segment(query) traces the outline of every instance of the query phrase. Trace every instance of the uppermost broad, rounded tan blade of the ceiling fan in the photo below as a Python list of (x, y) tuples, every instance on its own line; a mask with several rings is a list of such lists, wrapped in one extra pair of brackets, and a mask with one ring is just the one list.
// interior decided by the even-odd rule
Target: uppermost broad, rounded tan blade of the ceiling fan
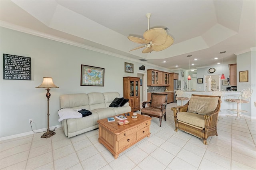
[(163, 45), (167, 39), (167, 33), (162, 28), (153, 28), (144, 32), (143, 37), (154, 45)]

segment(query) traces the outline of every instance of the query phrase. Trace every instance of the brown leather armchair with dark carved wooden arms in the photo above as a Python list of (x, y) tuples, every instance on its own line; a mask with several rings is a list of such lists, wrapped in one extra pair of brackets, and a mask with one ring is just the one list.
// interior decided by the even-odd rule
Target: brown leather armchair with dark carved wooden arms
[[(149, 107), (145, 107), (149, 103)], [(166, 105), (167, 94), (152, 93), (150, 101), (144, 101), (142, 103), (141, 114), (148, 115), (150, 117), (158, 117), (160, 121), (160, 127), (162, 126), (162, 117), (166, 121)]]

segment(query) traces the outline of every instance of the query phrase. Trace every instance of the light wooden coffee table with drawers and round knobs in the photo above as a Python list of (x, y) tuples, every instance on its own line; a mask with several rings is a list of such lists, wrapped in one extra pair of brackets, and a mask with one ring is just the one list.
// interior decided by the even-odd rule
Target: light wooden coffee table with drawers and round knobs
[[(117, 159), (119, 154), (142, 140), (146, 136), (150, 136), (151, 119), (148, 116), (137, 114), (138, 118), (132, 118), (133, 113), (129, 112), (130, 116), (126, 125), (118, 125), (119, 119), (114, 122), (108, 122), (107, 119), (98, 120), (99, 125), (99, 142), (102, 143)], [(124, 115), (124, 114), (121, 114)]]

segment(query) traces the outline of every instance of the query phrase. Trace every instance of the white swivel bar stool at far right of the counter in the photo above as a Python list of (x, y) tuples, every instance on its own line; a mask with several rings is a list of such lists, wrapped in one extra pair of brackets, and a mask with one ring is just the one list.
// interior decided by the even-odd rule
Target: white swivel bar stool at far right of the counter
[(227, 116), (232, 116), (232, 115), (236, 114), (236, 119), (237, 119), (238, 117), (240, 118), (241, 116), (243, 116), (240, 114), (240, 112), (241, 113), (248, 112), (248, 111), (240, 110), (239, 104), (240, 103), (241, 104), (250, 103), (252, 92), (253, 92), (253, 90), (248, 88), (248, 89), (243, 89), (237, 98), (234, 98), (235, 97), (234, 95), (228, 95), (226, 101), (236, 103), (237, 107), (236, 107), (236, 109), (228, 109), (230, 111), (236, 111), (236, 113), (233, 113), (233, 114), (227, 115)]

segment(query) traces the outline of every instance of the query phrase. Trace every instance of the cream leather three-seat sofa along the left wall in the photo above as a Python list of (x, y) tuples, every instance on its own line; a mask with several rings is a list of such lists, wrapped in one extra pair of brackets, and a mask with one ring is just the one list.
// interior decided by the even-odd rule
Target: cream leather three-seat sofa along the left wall
[(99, 119), (127, 113), (132, 110), (128, 102), (122, 107), (109, 107), (116, 97), (120, 97), (118, 92), (61, 95), (60, 108), (84, 108), (92, 112), (92, 115), (86, 117), (62, 120), (61, 123), (65, 135), (70, 138), (96, 129), (98, 128), (97, 121)]

